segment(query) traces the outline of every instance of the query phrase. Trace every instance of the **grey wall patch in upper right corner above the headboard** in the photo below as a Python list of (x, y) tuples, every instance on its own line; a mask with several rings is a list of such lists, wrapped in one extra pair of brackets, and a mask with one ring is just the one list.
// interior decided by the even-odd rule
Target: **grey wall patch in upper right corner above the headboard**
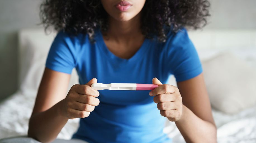
[(210, 0), (206, 29), (256, 29), (256, 0)]

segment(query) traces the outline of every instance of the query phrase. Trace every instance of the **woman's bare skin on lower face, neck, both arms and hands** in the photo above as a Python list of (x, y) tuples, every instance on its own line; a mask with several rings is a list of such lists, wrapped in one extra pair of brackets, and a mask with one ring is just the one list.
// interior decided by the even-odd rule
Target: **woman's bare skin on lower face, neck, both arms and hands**
[[(104, 42), (113, 54), (129, 59), (145, 39), (139, 21), (145, 0), (129, 1), (132, 7), (126, 12), (117, 11), (114, 7), (117, 2), (102, 0), (109, 14), (109, 29), (104, 33)], [(70, 74), (45, 68), (29, 121), (29, 137), (51, 142), (68, 119), (88, 117), (99, 105), (99, 92), (91, 88), (97, 79), (93, 78), (85, 85), (74, 85), (66, 94), (69, 80)], [(216, 127), (203, 74), (177, 82), (178, 87), (162, 84), (156, 78), (152, 84), (159, 86), (151, 91), (156, 108), (162, 116), (176, 123), (186, 142), (216, 142)]]

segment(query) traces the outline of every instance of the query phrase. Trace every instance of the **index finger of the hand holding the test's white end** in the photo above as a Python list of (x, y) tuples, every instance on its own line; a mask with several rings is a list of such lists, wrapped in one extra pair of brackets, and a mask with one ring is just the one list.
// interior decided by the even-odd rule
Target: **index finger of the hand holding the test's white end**
[(88, 85), (77, 85), (77, 87), (75, 88), (75, 91), (83, 95), (90, 95), (93, 97), (99, 96), (99, 91), (97, 91), (96, 89), (93, 89), (91, 86), (88, 86)]

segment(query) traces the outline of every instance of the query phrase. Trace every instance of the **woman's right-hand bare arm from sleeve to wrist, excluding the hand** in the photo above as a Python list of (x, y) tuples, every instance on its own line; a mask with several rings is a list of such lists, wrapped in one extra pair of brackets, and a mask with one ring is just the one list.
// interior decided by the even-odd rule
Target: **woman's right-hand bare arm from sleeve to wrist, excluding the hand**
[(182, 116), (175, 122), (186, 142), (217, 142), (216, 126), (203, 74), (177, 82), (182, 96)]

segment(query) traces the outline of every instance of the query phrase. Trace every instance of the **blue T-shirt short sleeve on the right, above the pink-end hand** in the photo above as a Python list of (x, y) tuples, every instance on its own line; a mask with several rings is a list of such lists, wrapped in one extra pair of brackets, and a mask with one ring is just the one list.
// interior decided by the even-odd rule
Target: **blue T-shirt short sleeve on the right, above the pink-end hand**
[(177, 82), (191, 79), (203, 72), (195, 46), (185, 28), (170, 36), (166, 46), (166, 70), (175, 76)]

